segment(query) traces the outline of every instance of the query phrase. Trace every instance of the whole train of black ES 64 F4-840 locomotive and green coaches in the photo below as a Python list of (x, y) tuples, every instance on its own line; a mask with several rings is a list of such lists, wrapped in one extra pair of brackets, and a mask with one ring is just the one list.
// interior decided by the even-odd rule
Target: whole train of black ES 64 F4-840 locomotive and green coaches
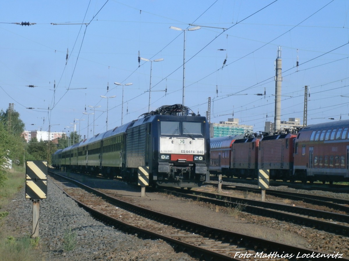
[(52, 159), (61, 158), (61, 165), (53, 166), (130, 182), (137, 182), (138, 168), (146, 167), (150, 185), (198, 187), (209, 180), (209, 125), (205, 117), (188, 114), (181, 104), (161, 106), (55, 152)]

